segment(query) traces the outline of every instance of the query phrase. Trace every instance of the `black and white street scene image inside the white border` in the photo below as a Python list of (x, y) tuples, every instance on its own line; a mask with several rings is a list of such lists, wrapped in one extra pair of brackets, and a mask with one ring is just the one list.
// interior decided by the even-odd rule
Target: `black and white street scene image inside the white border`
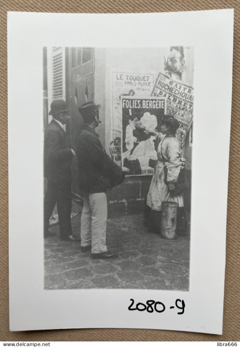
[(193, 67), (43, 48), (45, 289), (189, 290)]

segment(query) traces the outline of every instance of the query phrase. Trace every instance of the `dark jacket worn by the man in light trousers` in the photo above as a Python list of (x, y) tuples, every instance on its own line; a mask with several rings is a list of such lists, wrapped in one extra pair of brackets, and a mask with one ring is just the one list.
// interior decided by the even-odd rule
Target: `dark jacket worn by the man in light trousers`
[(122, 176), (122, 168), (105, 152), (99, 135), (84, 125), (77, 137), (76, 154), (79, 169), (79, 188), (86, 193), (102, 193), (111, 188), (109, 179)]

